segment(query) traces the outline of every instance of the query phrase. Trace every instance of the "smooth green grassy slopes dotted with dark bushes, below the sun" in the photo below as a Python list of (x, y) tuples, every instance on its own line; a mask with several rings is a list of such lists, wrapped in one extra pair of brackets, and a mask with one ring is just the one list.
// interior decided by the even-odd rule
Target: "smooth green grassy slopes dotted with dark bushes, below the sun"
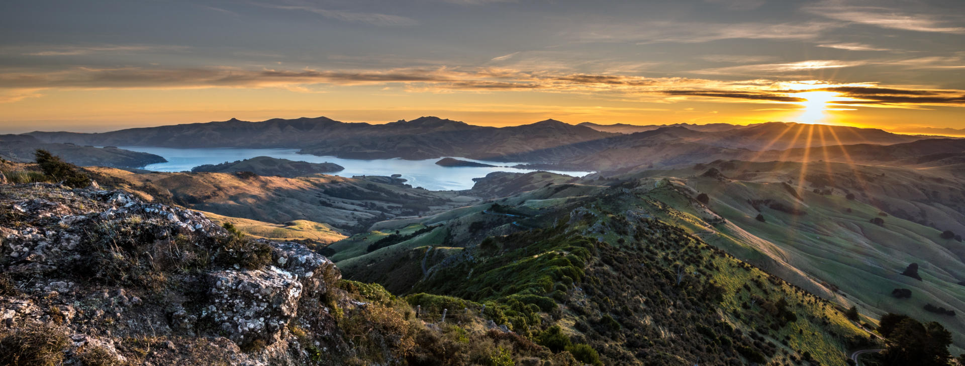
[[(688, 227), (707, 242), (815, 294), (856, 304), (874, 318), (893, 312), (945, 324), (958, 350), (965, 346), (965, 325), (955, 317), (924, 310), (929, 303), (958, 313), (965, 310), (965, 286), (961, 284), (965, 245), (941, 238), (938, 229), (882, 210), (916, 202), (912, 197), (917, 191), (899, 194), (902, 184), (911, 187), (927, 182), (912, 183), (894, 169), (881, 176), (875, 170), (883, 168), (869, 167), (860, 171), (876, 176), (877, 182), (867, 183), (864, 192), (848, 199), (841, 182), (815, 193), (812, 183), (797, 184), (800, 164), (785, 163), (785, 170), (778, 164), (752, 164), (749, 170), (769, 173), (745, 180), (686, 177), (683, 171), (654, 172), (648, 181), (669, 176), (669, 182), (676, 183), (652, 190), (648, 196), (678, 211), (655, 211), (668, 222)], [(785, 184), (788, 180), (795, 184)], [(699, 192), (708, 195), (706, 205), (694, 199)], [(758, 220), (758, 214), (764, 221)], [(882, 224), (872, 223), (875, 218)], [(900, 274), (912, 263), (919, 265), (923, 281)], [(895, 289), (909, 289), (912, 296), (896, 298), (892, 295)]]

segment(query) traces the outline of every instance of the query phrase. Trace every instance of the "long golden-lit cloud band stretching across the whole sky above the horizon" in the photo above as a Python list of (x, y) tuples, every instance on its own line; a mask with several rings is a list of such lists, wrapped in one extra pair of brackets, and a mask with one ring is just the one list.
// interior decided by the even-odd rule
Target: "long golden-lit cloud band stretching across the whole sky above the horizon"
[[(817, 62), (794, 63), (792, 69), (826, 68)], [(790, 65), (790, 64), (775, 64)], [(840, 66), (840, 65), (837, 65)], [(400, 68), (388, 70), (245, 70), (198, 69), (91, 69), (0, 72), (0, 92), (7, 100), (36, 97), (41, 90), (96, 89), (208, 89), (281, 88), (294, 93), (315, 93), (318, 86), (401, 86), (411, 93), (455, 91), (494, 93), (538, 91), (583, 94), (597, 98), (674, 102), (711, 99), (731, 102), (800, 103), (796, 93), (834, 92), (832, 104), (884, 107), (965, 105), (965, 91), (916, 87), (879, 87), (871, 83), (832, 84), (820, 81), (786, 82), (752, 78), (714, 80), (686, 77), (573, 73), (508, 68)]]

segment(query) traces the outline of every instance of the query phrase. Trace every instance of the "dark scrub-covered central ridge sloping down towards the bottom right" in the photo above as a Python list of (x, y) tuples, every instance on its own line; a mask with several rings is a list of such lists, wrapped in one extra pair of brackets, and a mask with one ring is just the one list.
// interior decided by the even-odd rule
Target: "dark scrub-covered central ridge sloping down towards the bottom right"
[(433, 296), (455, 296), (550, 349), (586, 344), (603, 364), (843, 365), (846, 350), (869, 344), (840, 305), (689, 235), (706, 225), (699, 218), (687, 228), (658, 220), (650, 211), (689, 214), (651, 196), (662, 190), (655, 185), (593, 185), (568, 198), (553, 195), (579, 186), (547, 186), (498, 201), (525, 215), (511, 218), (525, 226), (497, 222), (488, 239), (446, 239), (487, 217), (467, 208), (429, 232), (336, 259), (348, 278), (409, 294), (430, 313), (445, 306)]

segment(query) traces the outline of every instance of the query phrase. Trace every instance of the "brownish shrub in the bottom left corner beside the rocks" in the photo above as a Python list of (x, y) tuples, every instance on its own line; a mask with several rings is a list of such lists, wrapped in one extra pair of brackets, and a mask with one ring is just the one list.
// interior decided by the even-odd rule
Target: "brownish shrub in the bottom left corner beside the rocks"
[(33, 325), (15, 329), (0, 339), (0, 365), (54, 366), (64, 360), (67, 336), (60, 330)]

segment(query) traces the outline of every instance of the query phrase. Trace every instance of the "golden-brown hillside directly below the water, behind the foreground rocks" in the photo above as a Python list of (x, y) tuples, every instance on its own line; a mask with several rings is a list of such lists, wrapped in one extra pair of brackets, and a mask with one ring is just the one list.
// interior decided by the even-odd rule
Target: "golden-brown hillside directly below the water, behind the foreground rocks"
[(101, 184), (134, 191), (148, 200), (265, 222), (321, 222), (345, 232), (362, 232), (385, 219), (431, 214), (481, 201), (452, 191), (388, 183), (391, 181), (380, 177), (284, 178), (244, 173), (89, 170)]

